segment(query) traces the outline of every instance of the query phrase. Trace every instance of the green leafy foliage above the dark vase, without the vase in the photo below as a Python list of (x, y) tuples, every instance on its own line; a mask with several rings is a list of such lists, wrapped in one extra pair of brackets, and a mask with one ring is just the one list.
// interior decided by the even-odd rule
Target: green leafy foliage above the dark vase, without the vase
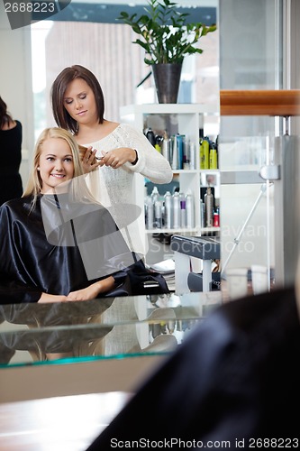
[(145, 50), (146, 64), (180, 64), (186, 55), (203, 52), (195, 44), (208, 32), (214, 32), (216, 25), (186, 22), (189, 14), (179, 13), (177, 4), (170, 0), (148, 0), (148, 4), (144, 8), (148, 14), (137, 17), (122, 12), (118, 18), (141, 36), (132, 42)]

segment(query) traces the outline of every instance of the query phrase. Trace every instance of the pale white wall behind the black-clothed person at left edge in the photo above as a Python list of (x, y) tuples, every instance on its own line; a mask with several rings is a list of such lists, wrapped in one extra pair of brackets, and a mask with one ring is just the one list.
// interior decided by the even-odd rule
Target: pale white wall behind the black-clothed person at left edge
[(23, 124), (21, 175), (24, 185), (28, 155), (34, 145), (31, 35), (29, 26), (11, 30), (3, 2), (0, 2), (0, 42), (0, 96), (14, 119)]

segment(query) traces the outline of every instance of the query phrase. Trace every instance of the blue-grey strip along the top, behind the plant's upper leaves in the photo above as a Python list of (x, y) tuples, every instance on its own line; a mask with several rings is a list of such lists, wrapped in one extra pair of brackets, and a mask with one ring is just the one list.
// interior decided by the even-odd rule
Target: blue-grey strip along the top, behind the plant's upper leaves
[[(68, 5), (66, 5), (66, 3)], [(60, 12), (51, 17), (53, 21), (66, 22), (94, 22), (94, 23), (115, 23), (121, 11), (128, 11), (129, 14), (144, 12), (145, 0), (71, 0), (59, 2)], [(206, 25), (216, 23), (215, 0), (181, 0), (178, 11), (190, 14), (191, 22), (201, 22)], [(178, 1), (179, 5), (179, 1)]]

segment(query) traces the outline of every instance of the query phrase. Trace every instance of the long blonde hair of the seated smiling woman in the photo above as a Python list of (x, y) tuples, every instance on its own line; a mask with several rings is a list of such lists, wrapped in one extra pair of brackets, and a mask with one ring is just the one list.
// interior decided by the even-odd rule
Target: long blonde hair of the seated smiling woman
[(95, 202), (91, 192), (87, 188), (84, 170), (81, 164), (81, 157), (78, 144), (74, 136), (59, 127), (46, 128), (40, 134), (34, 146), (32, 169), (30, 171), (29, 179), (26, 188), (23, 191), (23, 198), (32, 196), (32, 208), (35, 206), (38, 196), (41, 194), (42, 179), (38, 166), (40, 163), (42, 144), (49, 139), (62, 139), (68, 143), (69, 149), (72, 153), (74, 164), (74, 175), (71, 183), (72, 196), (76, 200)]

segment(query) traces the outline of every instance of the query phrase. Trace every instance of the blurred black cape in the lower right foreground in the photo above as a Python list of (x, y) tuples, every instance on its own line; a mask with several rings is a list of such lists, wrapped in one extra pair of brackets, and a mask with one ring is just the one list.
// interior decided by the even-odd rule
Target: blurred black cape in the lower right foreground
[(299, 355), (293, 289), (224, 304), (87, 450), (130, 448), (134, 440), (139, 449), (297, 448)]

